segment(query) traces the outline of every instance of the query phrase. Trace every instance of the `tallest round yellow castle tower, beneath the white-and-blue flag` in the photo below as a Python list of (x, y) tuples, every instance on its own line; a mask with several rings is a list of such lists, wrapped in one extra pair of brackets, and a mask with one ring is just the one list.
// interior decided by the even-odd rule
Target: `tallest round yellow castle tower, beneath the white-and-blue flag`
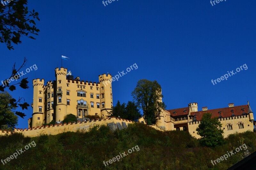
[(56, 104), (55, 114), (56, 121), (63, 121), (67, 115), (67, 83), (66, 83), (67, 69), (60, 67), (55, 69), (56, 86), (55, 91)]

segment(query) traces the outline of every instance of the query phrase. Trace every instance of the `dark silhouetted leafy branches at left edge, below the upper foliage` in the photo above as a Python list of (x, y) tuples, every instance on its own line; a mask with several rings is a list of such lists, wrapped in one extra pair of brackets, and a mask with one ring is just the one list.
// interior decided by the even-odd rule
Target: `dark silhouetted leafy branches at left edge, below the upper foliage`
[[(0, 91), (4, 92), (5, 88), (9, 88), (10, 91), (14, 91), (14, 90), (16, 90), (16, 85), (19, 85), (23, 89), (28, 88), (28, 81), (27, 81), (28, 78), (23, 78), (20, 82), (13, 84), (13, 85), (10, 84), (12, 81), (14, 81), (14, 79), (16, 81), (18, 79), (20, 79), (19, 71), (21, 68), (23, 68), (26, 65), (27, 61), (28, 60), (26, 58), (24, 58), (23, 64), (20, 66), (20, 68), (18, 70), (15, 69), (15, 63), (14, 63), (13, 68), (12, 68), (12, 74), (8, 79), (6, 79), (4, 81), (2, 80), (1, 83), (3, 85), (0, 85)], [(7, 97), (7, 96), (0, 96), (0, 99), (3, 101), (3, 104), (0, 106), (0, 111), (4, 110), (4, 109), (12, 110), (19, 106), (22, 108), (22, 110), (24, 110), (24, 109), (28, 109), (28, 106), (29, 106), (29, 104), (27, 102), (25, 102), (24, 98), (20, 98), (20, 97), (18, 100), (16, 100), (14, 98), (9, 99), (9, 97)], [(24, 118), (24, 116), (26, 116), (24, 113), (18, 112), (18, 111), (16, 111), (15, 114), (20, 116), (21, 118)]]

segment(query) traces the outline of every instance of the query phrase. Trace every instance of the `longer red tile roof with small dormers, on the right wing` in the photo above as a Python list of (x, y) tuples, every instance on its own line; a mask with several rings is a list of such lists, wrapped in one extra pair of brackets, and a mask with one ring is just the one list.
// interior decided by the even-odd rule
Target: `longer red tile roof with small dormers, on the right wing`
[(196, 115), (196, 120), (200, 121), (202, 119), (202, 116), (204, 113), (211, 113), (212, 118), (213, 117), (219, 117), (219, 110), (221, 111), (222, 117), (230, 117), (232, 115), (231, 110), (234, 110), (234, 115), (242, 115), (242, 107), (244, 107), (244, 113), (248, 113), (248, 105), (242, 105), (242, 106), (235, 106), (235, 107), (225, 107), (225, 108), (219, 108), (219, 109), (212, 109), (207, 111), (198, 111), (198, 112), (191, 112), (190, 115), (194, 116)]

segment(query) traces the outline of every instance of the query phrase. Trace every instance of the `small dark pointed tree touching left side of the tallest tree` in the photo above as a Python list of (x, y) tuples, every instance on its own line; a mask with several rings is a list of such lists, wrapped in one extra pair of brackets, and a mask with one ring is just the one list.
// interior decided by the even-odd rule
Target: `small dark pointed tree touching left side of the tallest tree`
[(124, 119), (137, 121), (141, 117), (140, 109), (135, 104), (135, 102), (128, 101), (125, 107), (125, 117)]

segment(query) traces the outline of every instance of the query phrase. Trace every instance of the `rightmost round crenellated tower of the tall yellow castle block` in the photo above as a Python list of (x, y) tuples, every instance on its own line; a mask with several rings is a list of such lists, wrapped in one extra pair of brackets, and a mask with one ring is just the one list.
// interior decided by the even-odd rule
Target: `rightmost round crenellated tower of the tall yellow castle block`
[(100, 114), (103, 118), (112, 110), (112, 76), (110, 74), (99, 75), (100, 81)]

